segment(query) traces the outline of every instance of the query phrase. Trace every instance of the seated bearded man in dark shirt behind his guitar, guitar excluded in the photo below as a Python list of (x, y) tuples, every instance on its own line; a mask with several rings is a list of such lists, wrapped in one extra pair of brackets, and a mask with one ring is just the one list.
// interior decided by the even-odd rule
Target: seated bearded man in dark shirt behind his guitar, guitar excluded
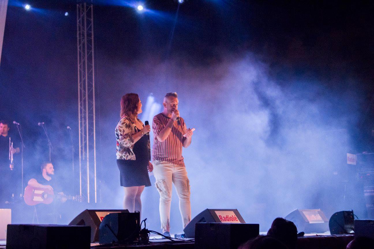
[[(28, 181), (28, 185), (34, 188), (42, 188), (52, 190), (55, 194), (55, 198), (52, 203), (45, 205), (40, 203), (36, 205), (37, 208), (37, 216), (39, 217), (39, 223), (44, 224), (53, 224), (58, 222), (58, 217), (61, 218), (58, 209), (60, 206), (58, 202), (64, 203), (66, 202), (66, 197), (64, 192), (62, 192), (61, 185), (58, 181), (54, 178), (55, 169), (53, 169), (53, 164), (48, 162), (42, 164), (40, 167), (42, 169), (42, 174), (37, 175), (34, 178), (31, 178)], [(58, 195), (58, 196), (57, 196)], [(56, 198), (59, 197), (59, 198)], [(59, 200), (58, 200), (59, 199)]]

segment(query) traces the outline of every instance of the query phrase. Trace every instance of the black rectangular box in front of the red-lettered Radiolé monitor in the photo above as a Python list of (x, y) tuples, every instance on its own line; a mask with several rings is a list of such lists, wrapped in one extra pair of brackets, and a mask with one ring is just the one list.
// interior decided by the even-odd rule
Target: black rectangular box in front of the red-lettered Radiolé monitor
[(259, 233), (259, 224), (197, 222), (195, 249), (236, 249)]

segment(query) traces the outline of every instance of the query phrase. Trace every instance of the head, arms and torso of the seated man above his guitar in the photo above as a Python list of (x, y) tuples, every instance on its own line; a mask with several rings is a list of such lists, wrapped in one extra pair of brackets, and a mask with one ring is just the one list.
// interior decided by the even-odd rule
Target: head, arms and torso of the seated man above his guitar
[(60, 184), (52, 176), (55, 174), (55, 169), (53, 169), (53, 164), (50, 162), (42, 164), (40, 167), (42, 169), (42, 175), (37, 175), (28, 181), (28, 185), (35, 188), (42, 188), (52, 190), (55, 194), (61, 195), (60, 201), (66, 202), (66, 197), (64, 192), (61, 190)]

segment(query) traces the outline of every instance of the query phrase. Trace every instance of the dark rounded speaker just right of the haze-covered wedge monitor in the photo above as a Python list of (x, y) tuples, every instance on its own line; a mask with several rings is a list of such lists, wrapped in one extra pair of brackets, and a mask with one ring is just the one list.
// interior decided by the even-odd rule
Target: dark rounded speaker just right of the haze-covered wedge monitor
[(339, 211), (331, 215), (328, 222), (330, 234), (353, 233), (355, 217), (352, 211)]

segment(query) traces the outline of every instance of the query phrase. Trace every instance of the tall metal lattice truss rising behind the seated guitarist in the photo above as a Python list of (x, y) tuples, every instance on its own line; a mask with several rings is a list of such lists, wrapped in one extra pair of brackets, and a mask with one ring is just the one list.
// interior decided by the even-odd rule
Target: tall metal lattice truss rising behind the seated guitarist
[(79, 194), (88, 203), (96, 193), (95, 67), (92, 1), (77, 2)]

